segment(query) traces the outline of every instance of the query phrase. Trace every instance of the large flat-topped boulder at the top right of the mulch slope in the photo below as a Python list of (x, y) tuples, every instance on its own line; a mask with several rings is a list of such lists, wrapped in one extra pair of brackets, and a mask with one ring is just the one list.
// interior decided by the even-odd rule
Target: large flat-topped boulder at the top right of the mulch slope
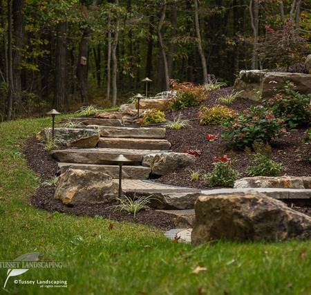
[(311, 88), (311, 75), (300, 73), (268, 72), (267, 70), (242, 70), (234, 83), (234, 91), (243, 91), (239, 96), (254, 101), (270, 98), (273, 88), (283, 90), (285, 82), (295, 84), (296, 91), (308, 95)]

